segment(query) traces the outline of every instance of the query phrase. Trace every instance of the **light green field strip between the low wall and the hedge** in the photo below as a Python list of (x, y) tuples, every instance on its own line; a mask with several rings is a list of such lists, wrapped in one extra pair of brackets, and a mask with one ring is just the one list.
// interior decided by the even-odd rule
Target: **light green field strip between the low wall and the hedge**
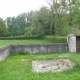
[(4, 46), (7, 44), (46, 44), (52, 43), (48, 40), (0, 40), (0, 46)]

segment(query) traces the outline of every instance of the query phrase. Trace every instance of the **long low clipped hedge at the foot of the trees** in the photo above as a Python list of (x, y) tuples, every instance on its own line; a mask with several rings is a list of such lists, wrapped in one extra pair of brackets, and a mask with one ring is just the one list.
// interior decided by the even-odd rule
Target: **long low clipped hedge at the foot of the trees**
[(60, 36), (0, 37), (0, 40), (30, 40), (30, 39), (43, 39), (43, 40), (47, 40), (49, 43), (50, 42), (51, 43), (66, 43), (67, 42), (66, 37), (60, 37)]

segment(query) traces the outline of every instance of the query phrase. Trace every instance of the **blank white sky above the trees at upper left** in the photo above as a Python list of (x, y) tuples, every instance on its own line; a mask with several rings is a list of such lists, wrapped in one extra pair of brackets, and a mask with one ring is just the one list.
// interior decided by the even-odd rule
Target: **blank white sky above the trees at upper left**
[(0, 0), (0, 18), (17, 16), (20, 13), (48, 6), (46, 0)]

